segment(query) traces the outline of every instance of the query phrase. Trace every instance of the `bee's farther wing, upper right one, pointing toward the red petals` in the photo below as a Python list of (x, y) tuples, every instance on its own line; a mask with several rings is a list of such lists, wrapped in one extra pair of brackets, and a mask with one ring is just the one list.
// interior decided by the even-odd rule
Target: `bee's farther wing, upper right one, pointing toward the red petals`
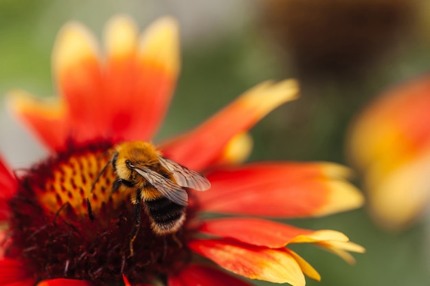
[(161, 165), (172, 173), (179, 186), (193, 188), (194, 190), (207, 190), (210, 188), (210, 181), (201, 173), (161, 156), (159, 156), (159, 160)]

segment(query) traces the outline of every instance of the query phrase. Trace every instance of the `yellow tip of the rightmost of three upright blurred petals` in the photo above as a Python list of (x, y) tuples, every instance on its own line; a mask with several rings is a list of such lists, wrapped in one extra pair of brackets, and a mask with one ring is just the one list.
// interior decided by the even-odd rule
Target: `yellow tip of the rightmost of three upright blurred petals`
[(181, 68), (177, 21), (163, 17), (152, 23), (139, 39), (139, 58), (176, 78)]

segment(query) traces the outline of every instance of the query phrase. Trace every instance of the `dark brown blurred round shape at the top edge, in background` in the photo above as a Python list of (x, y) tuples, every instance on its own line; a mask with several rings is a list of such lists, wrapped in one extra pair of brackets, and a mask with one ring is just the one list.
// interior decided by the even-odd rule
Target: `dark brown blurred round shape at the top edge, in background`
[(264, 21), (300, 80), (363, 76), (410, 31), (414, 1), (269, 0)]

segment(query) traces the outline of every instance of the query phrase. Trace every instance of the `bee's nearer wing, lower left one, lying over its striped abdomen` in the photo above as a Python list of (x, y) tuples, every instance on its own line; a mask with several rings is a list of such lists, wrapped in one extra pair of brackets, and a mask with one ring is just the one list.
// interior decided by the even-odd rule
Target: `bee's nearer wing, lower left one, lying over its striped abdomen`
[(163, 177), (159, 173), (149, 169), (149, 168), (137, 168), (136, 166), (131, 166), (137, 174), (141, 175), (148, 181), (149, 184), (154, 186), (163, 197), (170, 199), (174, 203), (181, 206), (188, 205), (188, 194), (185, 192), (181, 186), (178, 186), (171, 179)]

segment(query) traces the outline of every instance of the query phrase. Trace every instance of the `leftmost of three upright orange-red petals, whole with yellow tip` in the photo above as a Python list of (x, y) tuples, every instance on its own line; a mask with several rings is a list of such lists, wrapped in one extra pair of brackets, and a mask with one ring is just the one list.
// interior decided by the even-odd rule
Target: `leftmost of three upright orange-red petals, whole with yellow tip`
[(52, 55), (53, 71), (58, 91), (67, 102), (71, 127), (67, 135), (78, 142), (102, 135), (97, 126), (102, 115), (98, 107), (100, 100), (106, 98), (99, 54), (97, 42), (84, 25), (71, 22), (58, 33)]

